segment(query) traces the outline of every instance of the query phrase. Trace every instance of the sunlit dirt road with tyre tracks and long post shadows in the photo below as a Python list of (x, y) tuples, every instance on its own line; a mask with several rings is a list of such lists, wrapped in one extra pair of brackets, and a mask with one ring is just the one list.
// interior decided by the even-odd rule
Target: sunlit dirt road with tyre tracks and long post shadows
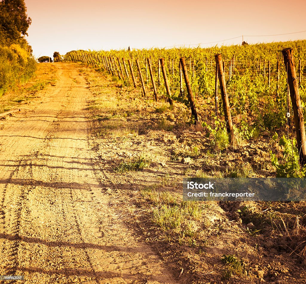
[(54, 66), (55, 86), (1, 124), (0, 275), (24, 275), (20, 283), (177, 283), (95, 177), (92, 94), (80, 67)]

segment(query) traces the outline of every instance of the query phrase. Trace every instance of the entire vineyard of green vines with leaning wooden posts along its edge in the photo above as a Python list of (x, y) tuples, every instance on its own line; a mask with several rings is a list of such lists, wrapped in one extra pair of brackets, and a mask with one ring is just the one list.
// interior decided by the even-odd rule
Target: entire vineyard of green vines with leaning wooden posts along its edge
[[(306, 140), (299, 138), (296, 142), (293, 138), (293, 129), (297, 127), (293, 126), (287, 63), (282, 55), (282, 49), (288, 46), (293, 48), (300, 109), (305, 115), (305, 41), (209, 49), (79, 50), (67, 53), (64, 60), (84, 62), (107, 72), (121, 86), (120, 91), (122, 87), (134, 86), (144, 99), (167, 100), (170, 109), (175, 102), (185, 104), (191, 109), (190, 123), (200, 123), (215, 144), (218, 144), (217, 136), (226, 135), (222, 135), (225, 126), (231, 145), (236, 140), (259, 138), (260, 133), (269, 133), (277, 141), (279, 136), (286, 153), (282, 156), (285, 157), (283, 164), (277, 159), (282, 160), (280, 153), (278, 157), (271, 157), (277, 176), (302, 177), (305, 169), (300, 167), (297, 156), (300, 155), (303, 166), (306, 149), (300, 149)], [(215, 54), (220, 54), (218, 59)], [(298, 149), (294, 147), (296, 143)]]

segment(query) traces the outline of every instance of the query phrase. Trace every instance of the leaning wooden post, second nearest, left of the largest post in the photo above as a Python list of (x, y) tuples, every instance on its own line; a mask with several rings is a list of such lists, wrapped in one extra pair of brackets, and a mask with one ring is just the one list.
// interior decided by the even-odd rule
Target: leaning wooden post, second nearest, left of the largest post
[(219, 77), (219, 84), (220, 84), (220, 90), (221, 90), (221, 96), (222, 96), (222, 102), (223, 102), (223, 110), (224, 110), (224, 116), (225, 116), (225, 123), (226, 123), (226, 131), (229, 135), (229, 141), (231, 145), (236, 144), (236, 139), (234, 135), (234, 129), (233, 129), (233, 122), (232, 122), (232, 116), (230, 113), (230, 103), (229, 98), (227, 96), (226, 92), (226, 83), (225, 83), (225, 76), (223, 73), (223, 66), (222, 66), (222, 55), (216, 54), (215, 55), (216, 64), (218, 65), (218, 77)]

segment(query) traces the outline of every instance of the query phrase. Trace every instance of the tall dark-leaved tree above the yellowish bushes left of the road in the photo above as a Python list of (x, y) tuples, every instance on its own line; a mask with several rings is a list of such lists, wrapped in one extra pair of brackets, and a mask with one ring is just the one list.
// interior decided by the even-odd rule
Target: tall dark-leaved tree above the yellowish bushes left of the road
[(32, 22), (24, 0), (0, 0), (0, 42), (20, 41)]

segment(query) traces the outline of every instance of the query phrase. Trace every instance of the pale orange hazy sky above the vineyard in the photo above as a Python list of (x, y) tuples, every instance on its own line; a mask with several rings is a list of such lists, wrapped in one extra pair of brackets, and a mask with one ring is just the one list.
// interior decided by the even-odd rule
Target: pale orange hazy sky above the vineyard
[(306, 39), (306, 0), (24, 2), (32, 19), (26, 39), (36, 58), (78, 49), (241, 44), (242, 35), (248, 43)]

